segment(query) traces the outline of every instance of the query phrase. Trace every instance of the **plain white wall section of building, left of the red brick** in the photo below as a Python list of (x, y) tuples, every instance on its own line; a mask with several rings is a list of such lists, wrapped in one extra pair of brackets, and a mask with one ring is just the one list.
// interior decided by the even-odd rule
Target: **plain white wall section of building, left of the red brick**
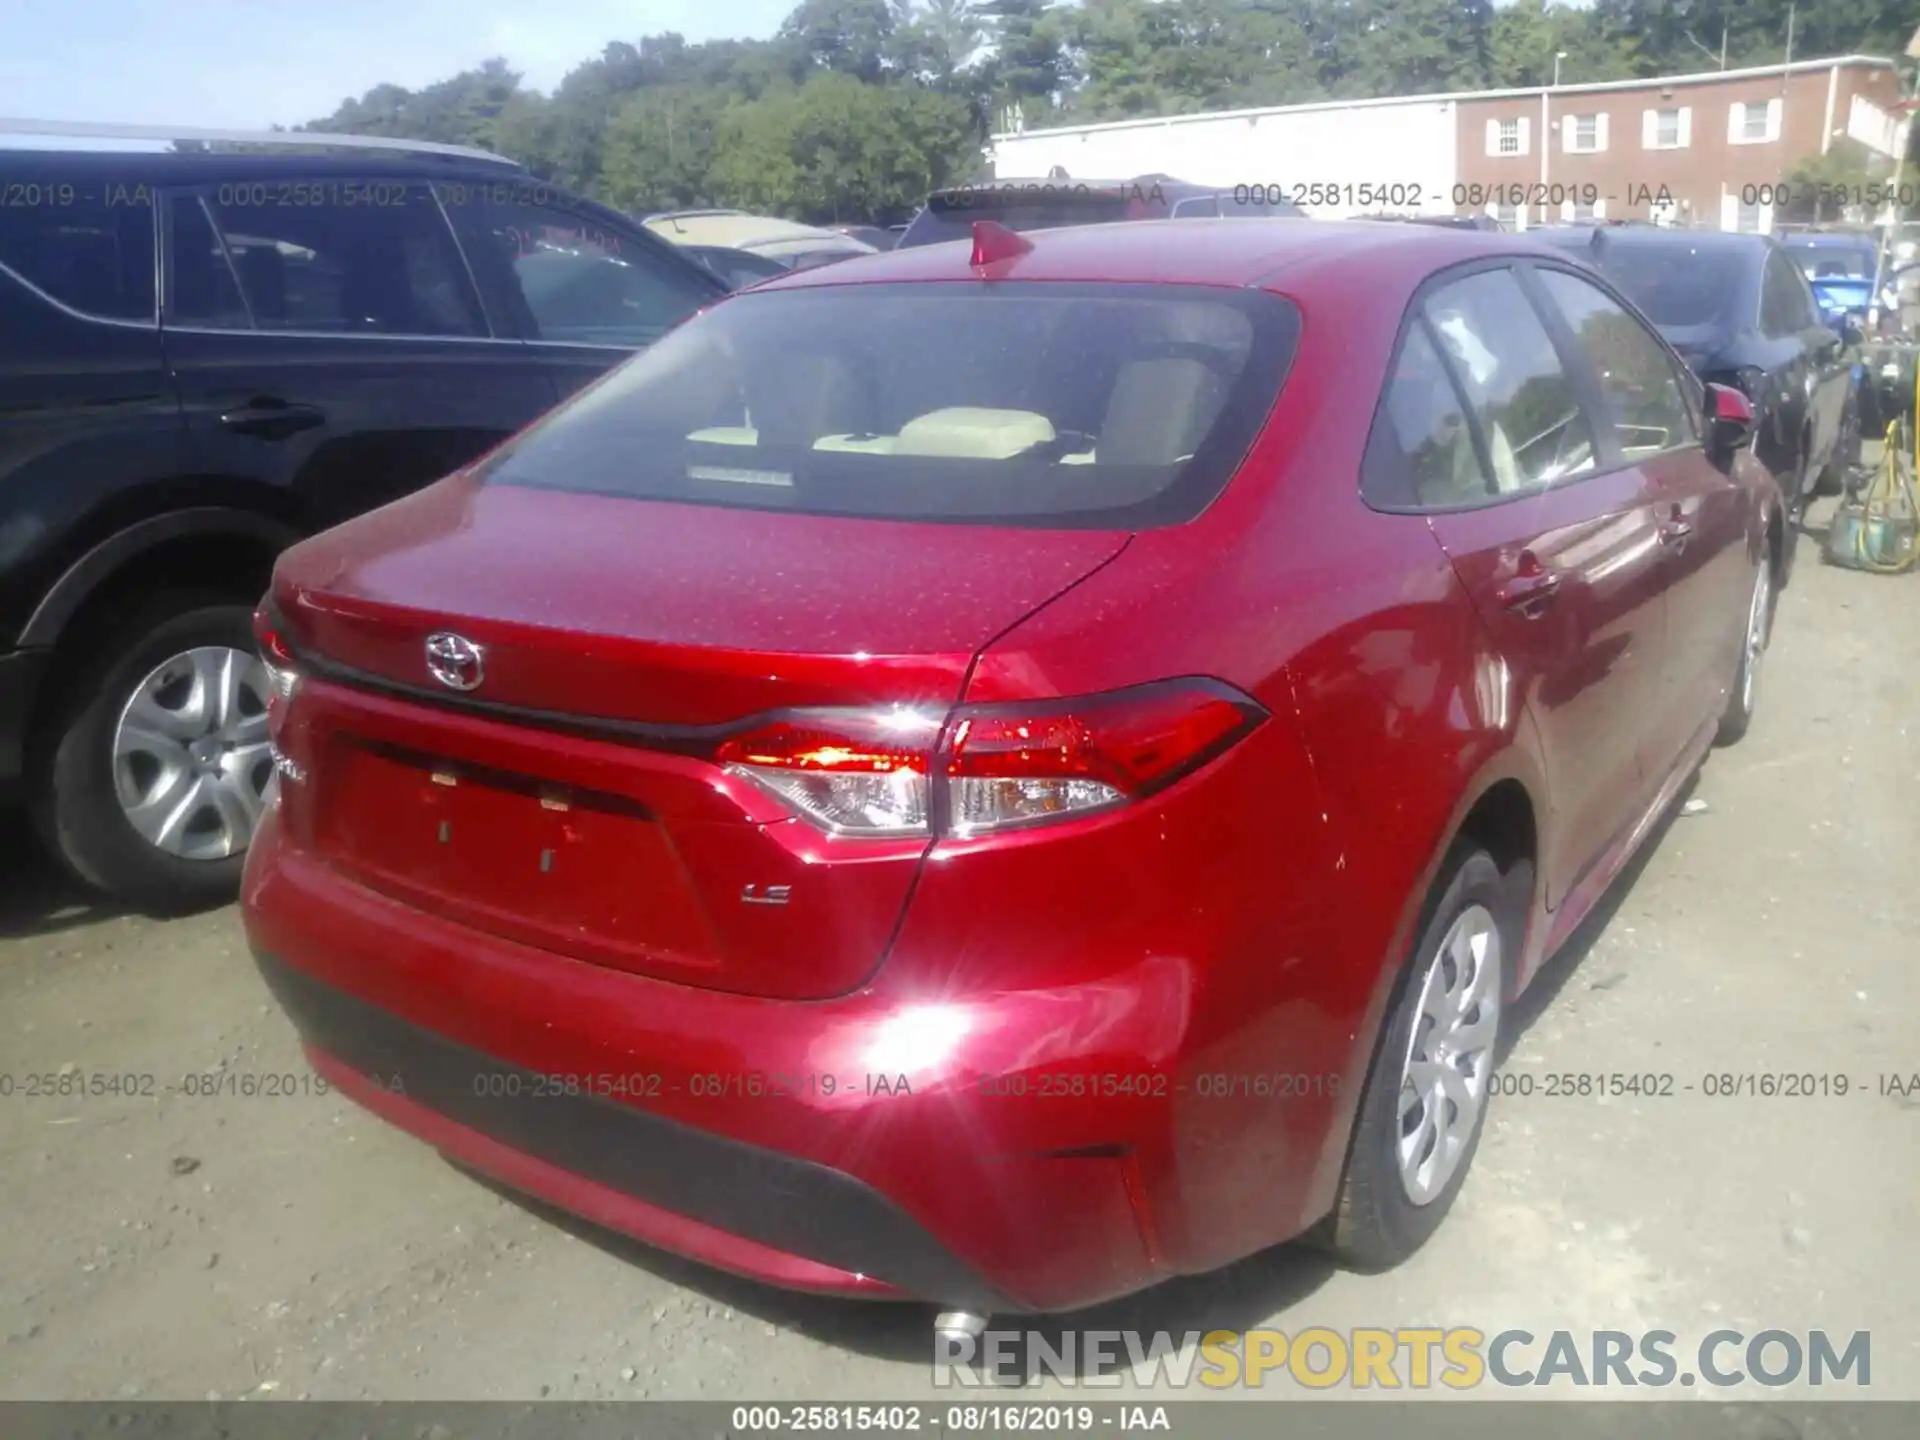
[(1284, 111), (1231, 111), (998, 134), (995, 179), (1129, 180), (1171, 175), (1198, 184), (1277, 186), (1309, 215), (1453, 213), (1459, 146), (1448, 100), (1392, 100)]

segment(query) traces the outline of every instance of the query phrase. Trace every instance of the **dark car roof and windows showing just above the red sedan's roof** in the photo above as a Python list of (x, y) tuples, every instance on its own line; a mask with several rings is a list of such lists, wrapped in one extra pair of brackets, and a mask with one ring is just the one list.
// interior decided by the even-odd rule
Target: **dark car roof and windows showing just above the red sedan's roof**
[(1164, 219), (1300, 219), (1306, 211), (1281, 186), (1190, 184), (1165, 175), (1133, 180), (981, 180), (935, 190), (900, 234), (897, 250), (966, 240), (975, 221), (1008, 230)]

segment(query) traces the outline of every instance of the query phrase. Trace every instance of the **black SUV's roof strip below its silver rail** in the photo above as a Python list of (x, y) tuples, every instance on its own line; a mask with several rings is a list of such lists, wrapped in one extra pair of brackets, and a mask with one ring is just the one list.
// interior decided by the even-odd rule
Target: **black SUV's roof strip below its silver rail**
[(445, 180), (455, 177), (476, 182), (513, 180), (524, 184), (528, 180), (528, 171), (520, 165), (438, 154), (392, 156), (361, 150), (303, 156), (284, 150), (36, 150), (25, 146), (0, 146), (0, 175), (73, 184), (205, 184), (261, 177), (324, 179), (346, 175), (369, 180)]

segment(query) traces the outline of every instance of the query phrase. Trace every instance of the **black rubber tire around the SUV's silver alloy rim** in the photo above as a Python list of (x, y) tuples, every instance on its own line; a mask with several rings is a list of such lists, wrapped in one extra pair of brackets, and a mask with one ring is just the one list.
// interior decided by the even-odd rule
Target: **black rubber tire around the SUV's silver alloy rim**
[(253, 609), (219, 593), (146, 595), (83, 641), (94, 659), (60, 685), (36, 733), (31, 804), (42, 841), (83, 883), (148, 914), (190, 914), (232, 900), (244, 851), (182, 858), (127, 820), (113, 781), (113, 732), (134, 687), (169, 657), (202, 645), (253, 653)]

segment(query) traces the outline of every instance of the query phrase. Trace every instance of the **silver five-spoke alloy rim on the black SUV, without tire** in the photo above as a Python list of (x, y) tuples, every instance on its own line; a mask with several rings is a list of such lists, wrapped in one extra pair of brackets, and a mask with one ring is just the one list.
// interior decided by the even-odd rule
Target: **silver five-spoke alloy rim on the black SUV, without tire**
[(248, 651), (202, 645), (161, 660), (113, 728), (121, 812), (182, 860), (244, 852), (271, 780), (267, 668)]

